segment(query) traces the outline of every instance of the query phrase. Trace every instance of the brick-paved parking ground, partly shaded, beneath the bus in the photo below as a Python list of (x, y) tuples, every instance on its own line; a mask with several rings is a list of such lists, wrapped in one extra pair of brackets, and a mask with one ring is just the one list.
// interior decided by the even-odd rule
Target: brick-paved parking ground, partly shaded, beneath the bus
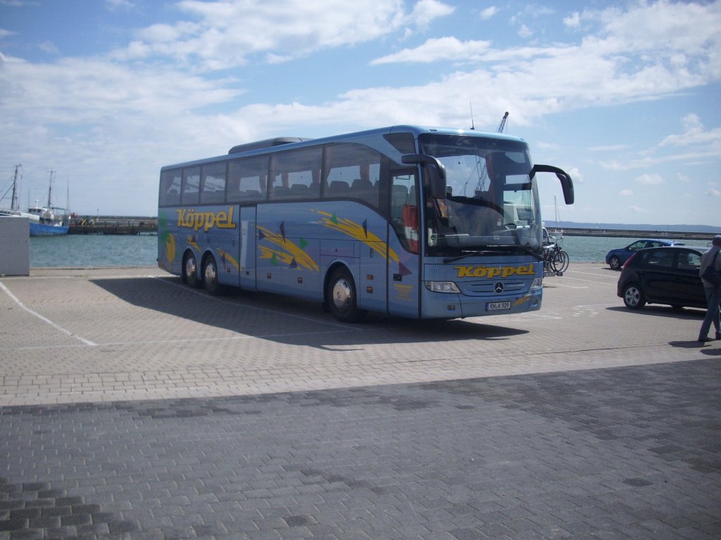
[(133, 272), (0, 280), (1, 540), (721, 538), (703, 312), (588, 265), (537, 314), (343, 328)]

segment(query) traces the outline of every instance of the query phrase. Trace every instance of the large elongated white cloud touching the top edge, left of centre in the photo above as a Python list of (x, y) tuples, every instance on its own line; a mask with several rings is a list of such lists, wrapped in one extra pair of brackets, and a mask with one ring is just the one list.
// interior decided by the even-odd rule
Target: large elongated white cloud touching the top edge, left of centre
[(373, 41), (409, 26), (426, 27), (454, 11), (438, 0), (417, 1), (410, 13), (403, 0), (184, 0), (177, 5), (192, 20), (147, 27), (114, 57), (193, 60), (208, 70), (244, 66), (255, 55), (278, 63)]

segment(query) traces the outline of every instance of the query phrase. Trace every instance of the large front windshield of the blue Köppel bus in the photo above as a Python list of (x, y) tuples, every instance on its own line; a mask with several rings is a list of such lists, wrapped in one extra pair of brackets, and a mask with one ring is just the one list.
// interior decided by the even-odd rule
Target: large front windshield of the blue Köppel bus
[(541, 221), (526, 143), (423, 134), (420, 152), (446, 169), (446, 196), (425, 189), (429, 256), (477, 252), (540, 253)]

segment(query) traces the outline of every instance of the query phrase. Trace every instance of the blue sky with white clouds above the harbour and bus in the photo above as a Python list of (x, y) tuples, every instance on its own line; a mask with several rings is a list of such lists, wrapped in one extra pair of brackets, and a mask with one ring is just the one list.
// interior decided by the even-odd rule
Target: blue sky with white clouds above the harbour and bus
[(0, 0), (0, 207), (157, 215), (164, 165), (397, 124), (564, 168), (544, 220), (721, 225), (721, 0)]

